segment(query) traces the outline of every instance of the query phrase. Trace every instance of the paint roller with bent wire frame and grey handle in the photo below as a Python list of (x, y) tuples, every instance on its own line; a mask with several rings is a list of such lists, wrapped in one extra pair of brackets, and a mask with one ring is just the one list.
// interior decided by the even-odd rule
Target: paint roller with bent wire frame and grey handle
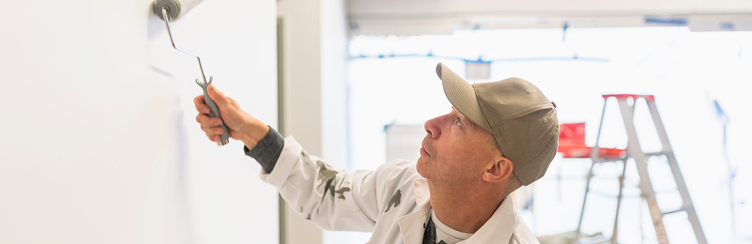
[[(200, 4), (202, 1), (204, 0), (156, 0), (152, 4), (152, 9), (154, 10), (156, 16), (159, 16), (159, 19), (165, 21), (165, 27), (167, 27), (167, 34), (170, 36), (172, 47), (180, 52), (184, 52), (188, 55), (196, 57), (196, 60), (199, 61), (199, 69), (201, 69), (201, 76), (204, 81), (201, 82), (199, 81), (199, 79), (196, 79), (196, 84), (199, 84), (199, 86), (204, 90), (204, 103), (211, 110), (209, 117), (221, 119), (222, 117), (220, 117), (220, 109), (217, 108), (217, 103), (214, 103), (214, 100), (211, 100), (208, 91), (206, 91), (206, 88), (209, 86), (209, 84), (211, 84), (211, 81), (212, 79), (214, 79), (214, 77), (209, 76), (209, 81), (206, 81), (206, 76), (204, 75), (204, 67), (202, 67), (201, 65), (201, 58), (199, 58), (199, 55), (196, 55), (195, 53), (190, 52), (186, 49), (182, 49), (180, 48), (180, 46), (175, 46), (175, 41), (172, 39), (172, 32), (170, 31), (171, 21), (179, 19), (180, 16), (188, 13), (188, 11), (190, 11), (193, 7), (196, 7), (196, 5)], [(217, 145), (220, 146), (229, 142), (229, 131), (227, 130), (227, 126), (224, 123), (222, 123), (221, 126), (224, 132), (220, 136), (220, 141), (217, 141)]]

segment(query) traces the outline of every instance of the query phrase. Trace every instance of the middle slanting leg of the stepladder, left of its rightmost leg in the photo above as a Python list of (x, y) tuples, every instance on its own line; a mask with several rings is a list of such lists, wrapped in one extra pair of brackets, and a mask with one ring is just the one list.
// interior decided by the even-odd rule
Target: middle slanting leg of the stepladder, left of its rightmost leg
[[(636, 101), (635, 101), (636, 104)], [(653, 227), (656, 229), (656, 236), (658, 237), (658, 243), (669, 243), (668, 237), (666, 237), (666, 228), (663, 227), (663, 213), (661, 213), (656, 201), (655, 192), (653, 191), (653, 184), (650, 183), (650, 175), (647, 174), (647, 163), (645, 162), (645, 153), (642, 152), (640, 143), (637, 138), (637, 132), (635, 130), (635, 123), (633, 118), (634, 105), (629, 106), (626, 100), (619, 100), (619, 107), (621, 109), (622, 118), (624, 120), (624, 126), (626, 127), (626, 135), (629, 138), (627, 144), (627, 153), (635, 159), (635, 165), (640, 175), (640, 189), (642, 197), (647, 201), (647, 209), (650, 210), (650, 218), (653, 219)]]

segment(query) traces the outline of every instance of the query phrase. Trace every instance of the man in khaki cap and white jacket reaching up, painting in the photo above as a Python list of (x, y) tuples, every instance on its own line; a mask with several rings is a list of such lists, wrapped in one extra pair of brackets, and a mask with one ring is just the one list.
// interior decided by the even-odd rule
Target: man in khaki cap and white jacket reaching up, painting
[(262, 165), (262, 180), (320, 228), (373, 231), (368, 243), (538, 243), (510, 193), (543, 176), (556, 153), (556, 105), (519, 78), (470, 85), (436, 66), (453, 109), (426, 121), (420, 159), (375, 171), (335, 171), (292, 136), (243, 112), (211, 86), (224, 121), (196, 97), (196, 121), (212, 141), (229, 136)]

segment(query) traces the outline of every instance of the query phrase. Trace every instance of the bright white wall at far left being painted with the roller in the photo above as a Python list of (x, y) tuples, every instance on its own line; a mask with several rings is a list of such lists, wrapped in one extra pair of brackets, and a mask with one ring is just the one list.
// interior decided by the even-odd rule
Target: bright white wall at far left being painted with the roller
[[(195, 58), (150, 0), (4, 1), (0, 243), (274, 243), (274, 189), (195, 122)], [(276, 125), (274, 1), (211, 0), (171, 26)], [(263, 106), (258, 106), (263, 104)]]

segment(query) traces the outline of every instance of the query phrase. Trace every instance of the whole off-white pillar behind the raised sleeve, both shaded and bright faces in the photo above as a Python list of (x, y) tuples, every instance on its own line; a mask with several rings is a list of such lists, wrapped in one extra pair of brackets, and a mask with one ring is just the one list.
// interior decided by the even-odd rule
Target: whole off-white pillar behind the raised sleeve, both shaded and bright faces
[[(347, 22), (344, 0), (281, 0), (284, 135), (346, 168)], [(322, 231), (284, 204), (284, 243), (321, 243)], [(331, 235), (331, 234), (329, 234)], [(336, 234), (335, 234), (336, 236)]]

